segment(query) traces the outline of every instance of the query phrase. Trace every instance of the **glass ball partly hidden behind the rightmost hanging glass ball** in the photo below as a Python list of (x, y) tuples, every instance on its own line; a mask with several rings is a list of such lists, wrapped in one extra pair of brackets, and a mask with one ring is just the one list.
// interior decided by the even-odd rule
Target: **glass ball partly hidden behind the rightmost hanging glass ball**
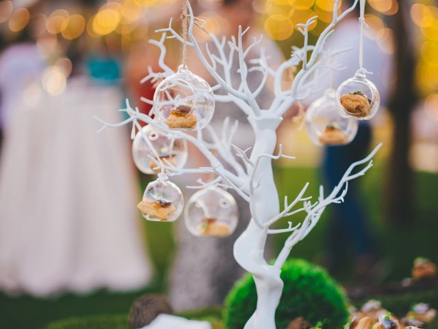
[(307, 109), (306, 130), (316, 145), (345, 145), (357, 134), (359, 121), (343, 117), (336, 104), (336, 90), (328, 89)]

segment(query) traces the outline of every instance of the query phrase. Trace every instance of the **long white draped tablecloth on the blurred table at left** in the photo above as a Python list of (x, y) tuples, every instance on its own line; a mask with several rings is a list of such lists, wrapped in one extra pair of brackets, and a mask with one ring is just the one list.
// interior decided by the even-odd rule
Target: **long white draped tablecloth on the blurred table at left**
[(16, 103), (0, 166), (0, 289), (49, 295), (137, 289), (151, 276), (118, 88), (71, 81)]

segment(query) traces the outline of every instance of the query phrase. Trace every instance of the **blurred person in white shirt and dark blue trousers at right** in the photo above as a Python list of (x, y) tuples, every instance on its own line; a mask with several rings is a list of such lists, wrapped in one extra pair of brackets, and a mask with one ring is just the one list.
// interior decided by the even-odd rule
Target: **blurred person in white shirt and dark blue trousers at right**
[[(350, 5), (352, 1), (344, 1), (342, 10), (348, 9)], [(342, 62), (347, 69), (333, 72), (335, 88), (353, 77), (359, 69), (359, 29), (358, 5), (355, 11), (335, 27), (335, 32), (326, 42), (326, 49), (352, 48), (337, 58), (337, 61)], [(368, 75), (368, 79), (376, 84), (381, 96), (381, 107), (384, 107), (391, 92), (392, 56), (378, 45), (375, 33), (371, 28), (365, 27), (363, 63), (365, 69), (372, 72), (372, 75)], [(329, 81), (322, 84), (328, 87)], [(339, 182), (352, 162), (361, 160), (368, 154), (372, 141), (373, 121), (359, 121), (359, 130), (352, 143), (324, 148), (322, 175), (327, 191)], [(339, 269), (342, 266), (341, 256), (345, 256), (346, 249), (350, 249), (357, 276), (370, 274), (368, 270), (376, 262), (378, 252), (363, 195), (359, 191), (360, 182), (361, 180), (350, 182), (345, 202), (331, 206), (331, 218), (328, 219), (329, 229), (326, 236), (326, 266), (332, 271)]]

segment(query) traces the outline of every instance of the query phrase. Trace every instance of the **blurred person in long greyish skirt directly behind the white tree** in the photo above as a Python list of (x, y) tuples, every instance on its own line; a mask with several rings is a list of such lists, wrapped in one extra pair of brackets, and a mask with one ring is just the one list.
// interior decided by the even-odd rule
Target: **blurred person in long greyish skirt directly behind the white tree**
[[(224, 20), (224, 23), (220, 26), (220, 34), (217, 34), (218, 38), (227, 36), (229, 39), (233, 35), (237, 36), (239, 25), (242, 25), (242, 29), (246, 29), (249, 26), (251, 29), (244, 36), (245, 47), (248, 47), (254, 37), (259, 38), (260, 34), (263, 34), (263, 32), (254, 27), (257, 14), (252, 8), (252, 0), (224, 0), (222, 3), (223, 5), (217, 14)], [(199, 10), (199, 8), (194, 8), (195, 12), (196, 9)], [(197, 29), (197, 27), (195, 28)], [(201, 31), (200, 33), (203, 34), (204, 32)], [(211, 44), (209, 46), (209, 49), (216, 53), (214, 45)], [(246, 58), (248, 66), (252, 66), (249, 63), (252, 58), (259, 57), (260, 47), (264, 47), (266, 53), (270, 56), (268, 64), (275, 66), (283, 61), (283, 55), (275, 42), (265, 37), (261, 45), (254, 47), (248, 54)], [(201, 45), (201, 49), (203, 48), (203, 45)], [(198, 56), (196, 56), (194, 51), (190, 51), (190, 49), (188, 51), (188, 69), (194, 74), (205, 78), (211, 86), (216, 84), (205, 70), (205, 67), (199, 62)], [(230, 70), (231, 80), (234, 82), (234, 85), (240, 83), (240, 73), (238, 73), (237, 69), (238, 57), (236, 55), (233, 67)], [(220, 65), (218, 65), (218, 72), (222, 73)], [(251, 90), (255, 90), (261, 82), (261, 73), (250, 73), (248, 82)], [(259, 97), (257, 97), (261, 108), (268, 108), (272, 97), (270, 88), (264, 88)], [(253, 145), (254, 133), (247, 121), (246, 114), (233, 103), (216, 102), (214, 117), (211, 121), (211, 126), (214, 127), (216, 132), (220, 132), (226, 117), (230, 117), (231, 124), (235, 120), (239, 121), (239, 128), (233, 143), (242, 149)], [(207, 132), (204, 133), (204, 138), (209, 141), (209, 134)], [(208, 165), (196, 147), (190, 145), (189, 154), (186, 167), (192, 168)], [(194, 175), (184, 175), (184, 177), (175, 176), (172, 180), (175, 180), (179, 186), (183, 187), (193, 185), (197, 178), (198, 176), (194, 177)], [(208, 182), (211, 180), (211, 176), (204, 175), (202, 180)], [(234, 191), (229, 192), (235, 197), (239, 208), (239, 223), (231, 236), (227, 238), (193, 236), (185, 228), (184, 219), (179, 219), (177, 255), (170, 278), (170, 300), (172, 306), (177, 310), (222, 304), (224, 297), (235, 281), (244, 273), (244, 270), (235, 262), (233, 257), (233, 244), (248, 225), (250, 210), (248, 203), (244, 199), (238, 196), (237, 193), (234, 193)], [(183, 189), (183, 193), (185, 199), (189, 199), (194, 190)], [(269, 250), (266, 252), (269, 253)]]

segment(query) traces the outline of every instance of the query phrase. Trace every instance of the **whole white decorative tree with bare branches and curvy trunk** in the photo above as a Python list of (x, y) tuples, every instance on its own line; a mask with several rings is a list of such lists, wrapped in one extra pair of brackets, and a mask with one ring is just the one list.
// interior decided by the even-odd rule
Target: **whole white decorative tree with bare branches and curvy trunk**
[[(133, 123), (133, 132), (136, 129), (141, 131), (139, 121), (143, 121), (159, 130), (172, 134), (175, 138), (185, 139), (201, 151), (211, 166), (181, 169), (172, 166), (170, 162), (160, 160), (159, 157), (151, 157), (151, 161), (157, 164), (161, 171), (159, 178), (165, 180), (167, 176), (185, 173), (214, 173), (216, 178), (211, 180), (211, 182), (198, 180), (198, 186), (188, 187), (205, 188), (207, 186), (221, 186), (231, 188), (249, 203), (252, 218), (246, 230), (234, 243), (235, 260), (253, 275), (257, 287), (257, 308), (250, 319), (248, 319), (244, 329), (276, 328), (275, 311), (283, 290), (283, 281), (280, 278), (281, 267), (289, 253), (294, 245), (302, 241), (315, 227), (326, 206), (329, 206), (329, 204), (339, 204), (344, 201), (348, 182), (364, 175), (372, 167), (372, 157), (381, 147), (381, 145), (378, 145), (366, 158), (351, 164), (339, 181), (339, 184), (330, 193), (325, 194), (324, 188), (320, 186), (318, 200), (312, 202), (311, 197), (305, 196), (309, 186), (309, 183), (307, 183), (292, 202), (289, 202), (286, 196), (284, 199), (284, 209), (280, 210), (279, 195), (272, 174), (272, 160), (292, 157), (283, 154), (281, 145), (279, 145), (278, 154), (273, 155), (276, 148), (276, 129), (282, 121), (283, 114), (296, 101), (305, 99), (312, 93), (315, 93), (315, 91), (318, 91), (316, 86), (318, 78), (328, 71), (342, 69), (342, 66), (339, 64), (333, 64), (333, 58), (342, 51), (326, 51), (324, 43), (331, 34), (333, 27), (344, 19), (348, 13), (352, 12), (358, 2), (359, 0), (355, 0), (348, 10), (338, 14), (339, 0), (335, 0), (333, 21), (324, 29), (315, 45), (308, 44), (308, 32), (309, 27), (315, 23), (316, 16), (309, 19), (305, 24), (298, 24), (298, 30), (304, 36), (304, 46), (302, 48), (294, 48), (292, 56), (277, 69), (272, 69), (268, 66), (268, 58), (263, 49), (260, 51), (259, 58), (250, 60), (252, 66), (248, 67), (245, 60), (248, 52), (257, 47), (261, 42), (261, 38), (259, 38), (254, 40), (246, 49), (244, 48), (242, 38), (248, 32), (248, 28), (242, 30), (242, 27), (239, 27), (237, 38), (232, 37), (231, 40), (226, 40), (226, 38), (218, 39), (214, 34), (209, 33), (209, 38), (215, 49), (213, 52), (210, 51), (209, 44), (206, 43), (205, 56), (201, 46), (194, 37), (193, 29), (198, 21), (194, 17), (188, 1), (188, 17), (190, 21), (188, 25), (188, 39), (185, 40), (183, 36), (180, 36), (172, 28), (172, 19), (170, 19), (168, 27), (157, 30), (157, 32), (162, 34), (160, 40), (149, 41), (152, 45), (159, 47), (161, 51), (159, 66), (162, 72), (153, 72), (149, 67), (149, 74), (142, 81), (155, 83), (162, 80), (162, 78), (174, 74), (175, 72), (164, 62), (166, 57), (164, 41), (166, 38), (175, 38), (179, 42), (185, 42), (187, 47), (192, 47), (196, 51), (205, 69), (216, 80), (217, 84), (212, 89), (216, 93), (218, 91), (221, 91), (221, 93), (215, 93), (215, 100), (234, 103), (247, 115), (248, 122), (253, 127), (255, 133), (253, 147), (243, 150), (233, 145), (233, 134), (237, 131), (238, 127), (237, 122), (235, 125), (230, 126), (228, 119), (223, 123), (222, 136), (217, 134), (211, 126), (207, 126), (206, 130), (214, 141), (214, 143), (207, 143), (203, 139), (201, 130), (197, 131), (196, 136), (187, 132), (172, 130), (157, 120), (152, 119), (149, 115), (140, 113), (138, 108), (131, 108), (129, 101), (127, 101), (127, 108), (121, 110), (129, 114), (129, 119), (120, 123), (110, 124), (96, 118), (103, 123), (101, 130), (108, 126), (120, 127), (127, 123)], [(239, 58), (238, 72), (240, 73), (240, 84), (238, 88), (233, 87), (231, 82), (231, 68), (235, 53), (237, 53)], [(302, 69), (296, 73), (292, 88), (283, 90), (283, 75), (285, 75), (288, 69), (300, 64)], [(216, 70), (218, 66), (222, 66), (223, 74), (218, 73)], [(260, 71), (263, 74), (263, 79), (255, 90), (250, 90), (248, 75), (253, 71)], [(274, 99), (270, 108), (263, 109), (257, 103), (256, 97), (265, 88), (269, 75), (274, 78)], [(153, 104), (153, 101), (150, 99), (143, 98), (142, 101)], [(144, 139), (147, 142), (147, 136), (144, 136)], [(211, 152), (212, 149), (217, 151), (218, 156)], [(156, 151), (153, 153), (157, 154)], [(354, 172), (362, 164), (365, 164), (365, 167)], [(226, 167), (230, 169), (226, 169)], [(301, 206), (298, 206), (298, 204), (301, 204)], [(289, 221), (287, 228), (271, 228), (274, 223), (283, 219), (283, 217), (292, 217), (299, 213), (305, 214), (305, 219), (297, 225), (294, 226), (292, 221)], [(287, 237), (274, 264), (270, 265), (263, 257), (263, 249), (268, 234), (285, 232), (289, 232), (290, 235)]]

